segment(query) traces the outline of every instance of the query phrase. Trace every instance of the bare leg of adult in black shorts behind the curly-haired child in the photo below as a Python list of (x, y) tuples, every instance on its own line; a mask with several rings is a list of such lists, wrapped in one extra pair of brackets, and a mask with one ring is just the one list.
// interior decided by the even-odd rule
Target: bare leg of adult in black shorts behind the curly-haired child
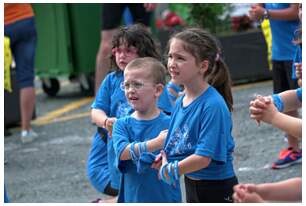
[(101, 32), (101, 41), (98, 54), (96, 56), (96, 74), (95, 74), (95, 94), (110, 70), (110, 54), (112, 38), (117, 29), (111, 29)]

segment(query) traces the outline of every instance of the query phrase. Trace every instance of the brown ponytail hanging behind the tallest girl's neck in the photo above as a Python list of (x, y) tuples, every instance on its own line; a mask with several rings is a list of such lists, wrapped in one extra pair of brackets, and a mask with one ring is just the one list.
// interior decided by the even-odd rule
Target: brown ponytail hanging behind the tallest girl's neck
[(229, 69), (223, 59), (219, 57), (213, 70), (208, 74), (207, 82), (212, 85), (223, 96), (228, 109), (233, 111), (232, 80)]

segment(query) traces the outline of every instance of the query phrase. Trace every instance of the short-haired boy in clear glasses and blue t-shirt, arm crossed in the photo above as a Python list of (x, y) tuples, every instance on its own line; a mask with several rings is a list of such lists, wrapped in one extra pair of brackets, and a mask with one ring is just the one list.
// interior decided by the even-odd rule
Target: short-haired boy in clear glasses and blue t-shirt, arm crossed
[(130, 62), (124, 70), (125, 96), (134, 109), (114, 124), (115, 162), (122, 172), (118, 202), (181, 202), (179, 182), (168, 185), (151, 168), (163, 147), (170, 117), (157, 107), (165, 85), (165, 67), (145, 57)]

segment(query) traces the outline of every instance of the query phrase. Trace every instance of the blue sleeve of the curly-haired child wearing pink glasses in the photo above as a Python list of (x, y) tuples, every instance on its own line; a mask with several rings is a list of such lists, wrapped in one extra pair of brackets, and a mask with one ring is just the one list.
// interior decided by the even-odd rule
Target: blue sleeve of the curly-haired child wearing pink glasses
[(92, 103), (92, 109), (103, 110), (106, 114), (110, 113), (111, 105), (111, 75), (107, 75), (103, 80), (99, 91), (96, 95), (95, 101)]

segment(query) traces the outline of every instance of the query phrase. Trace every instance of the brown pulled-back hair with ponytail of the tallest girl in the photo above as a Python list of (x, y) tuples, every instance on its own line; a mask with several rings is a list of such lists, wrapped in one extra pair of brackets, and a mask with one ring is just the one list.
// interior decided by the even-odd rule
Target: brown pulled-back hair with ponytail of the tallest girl
[(223, 96), (230, 111), (233, 111), (233, 96), (229, 69), (221, 58), (220, 43), (208, 31), (201, 28), (186, 28), (174, 34), (168, 42), (167, 50), (173, 39), (184, 42), (184, 49), (193, 55), (197, 63), (208, 60), (208, 69), (204, 74), (207, 82)]

